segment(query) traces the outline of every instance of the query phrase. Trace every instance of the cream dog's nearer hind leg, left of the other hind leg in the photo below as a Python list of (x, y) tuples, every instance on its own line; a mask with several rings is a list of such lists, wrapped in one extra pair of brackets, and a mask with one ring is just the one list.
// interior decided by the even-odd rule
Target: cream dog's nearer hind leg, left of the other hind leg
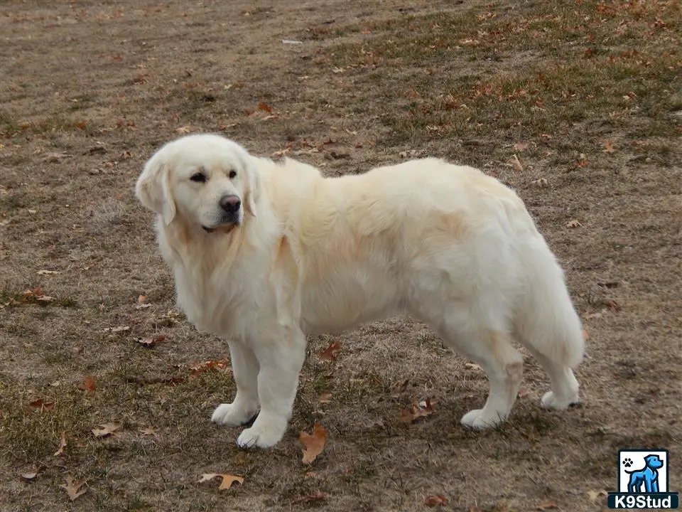
[(462, 416), (462, 425), (475, 430), (494, 427), (509, 416), (519, 393), (524, 360), (502, 331), (467, 331), (453, 321), (438, 329), (443, 341), (478, 363), (490, 380), (490, 392), (482, 409)]

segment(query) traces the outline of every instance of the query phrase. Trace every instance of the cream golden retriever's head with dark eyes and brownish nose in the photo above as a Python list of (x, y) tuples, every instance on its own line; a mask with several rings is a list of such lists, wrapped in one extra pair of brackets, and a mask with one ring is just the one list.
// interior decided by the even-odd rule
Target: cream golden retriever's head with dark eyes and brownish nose
[(180, 137), (144, 166), (135, 193), (169, 225), (175, 219), (207, 232), (232, 230), (256, 215), (258, 169), (246, 149), (220, 135)]

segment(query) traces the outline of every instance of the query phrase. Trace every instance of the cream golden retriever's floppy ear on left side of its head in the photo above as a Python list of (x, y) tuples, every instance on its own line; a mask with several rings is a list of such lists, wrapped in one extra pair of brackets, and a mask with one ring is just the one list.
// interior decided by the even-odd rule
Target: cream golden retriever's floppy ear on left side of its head
[(163, 218), (166, 225), (175, 218), (175, 201), (171, 195), (171, 181), (168, 164), (161, 154), (163, 149), (153, 154), (137, 179), (135, 195), (139, 201)]

